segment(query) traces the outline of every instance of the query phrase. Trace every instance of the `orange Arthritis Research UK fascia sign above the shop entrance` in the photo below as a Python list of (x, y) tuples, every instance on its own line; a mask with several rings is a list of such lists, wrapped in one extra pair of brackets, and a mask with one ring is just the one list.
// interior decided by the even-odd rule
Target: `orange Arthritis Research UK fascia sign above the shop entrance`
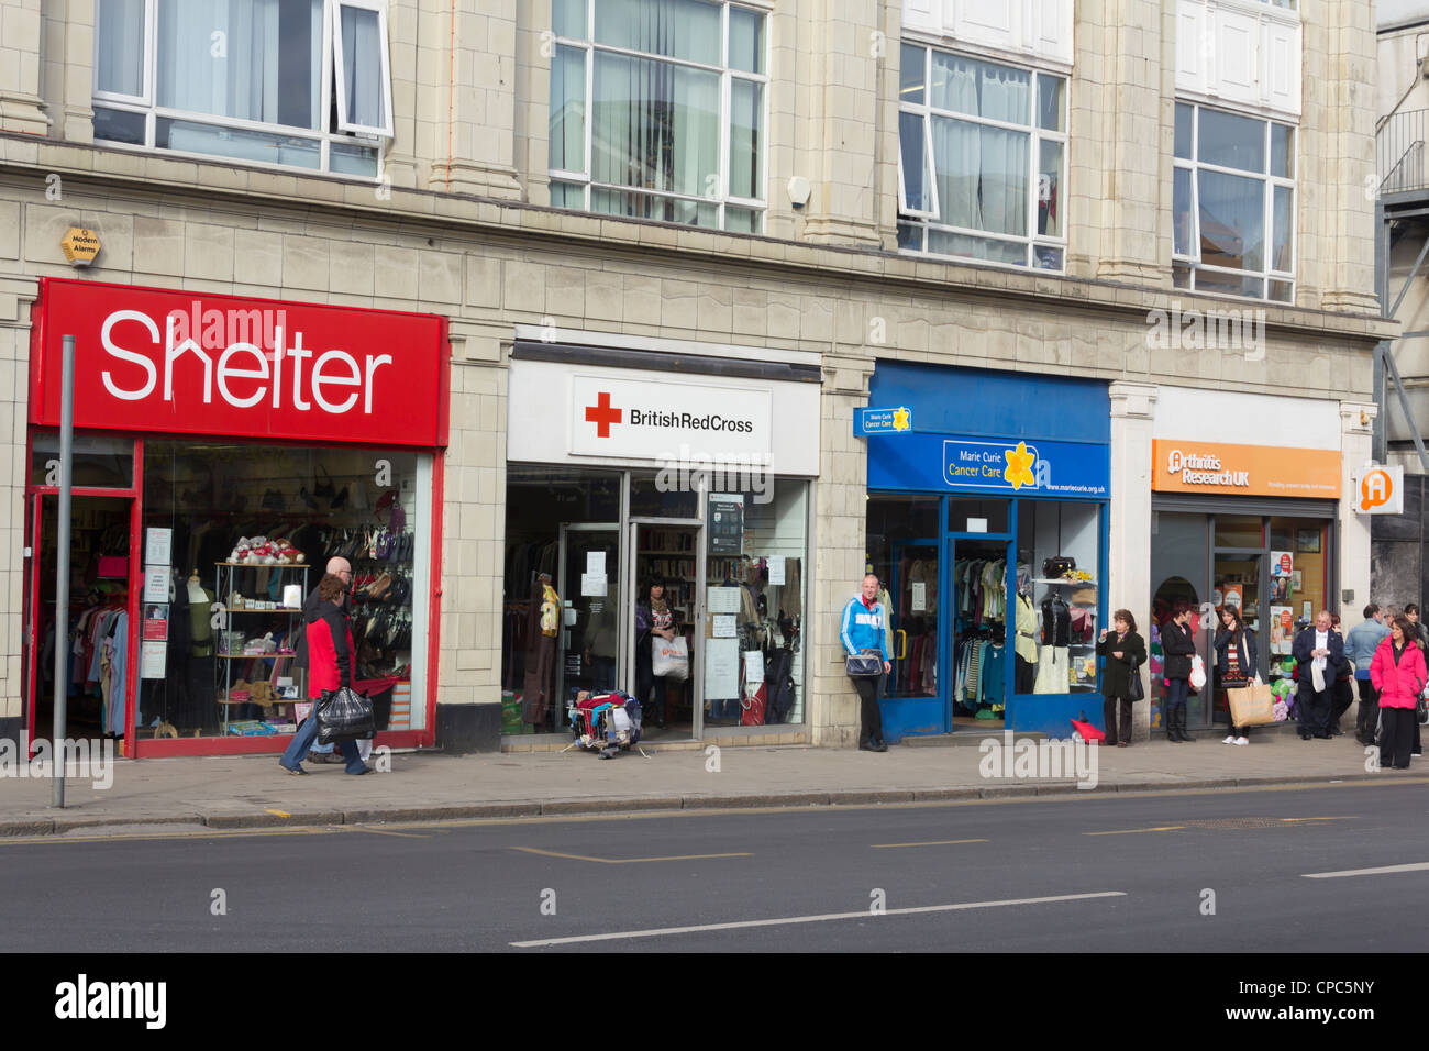
[(1152, 489), (1169, 493), (1338, 500), (1340, 453), (1336, 449), (1155, 439)]

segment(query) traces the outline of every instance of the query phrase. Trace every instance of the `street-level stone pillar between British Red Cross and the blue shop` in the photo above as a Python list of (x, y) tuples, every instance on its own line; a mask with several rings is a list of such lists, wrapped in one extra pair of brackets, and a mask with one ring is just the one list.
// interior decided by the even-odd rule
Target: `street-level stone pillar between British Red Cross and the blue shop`
[(859, 695), (843, 673), (839, 616), (863, 578), (867, 525), (867, 449), (853, 438), (853, 410), (869, 402), (873, 362), (825, 355), (820, 478), (815, 483), (815, 556), (810, 609), (805, 623), (809, 724), (813, 744), (853, 748), (859, 742)]

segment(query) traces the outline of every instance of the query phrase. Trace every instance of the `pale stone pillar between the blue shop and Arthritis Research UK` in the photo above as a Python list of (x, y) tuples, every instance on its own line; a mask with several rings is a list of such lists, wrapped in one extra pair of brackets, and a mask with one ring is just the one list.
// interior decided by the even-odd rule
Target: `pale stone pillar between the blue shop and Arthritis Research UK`
[[(1112, 528), (1107, 541), (1106, 616), (1130, 609), (1150, 645), (1152, 598), (1152, 422), (1156, 386), (1112, 383)], [(1146, 696), (1152, 695), (1142, 669)], [(1132, 706), (1133, 741), (1150, 735), (1150, 705)]]

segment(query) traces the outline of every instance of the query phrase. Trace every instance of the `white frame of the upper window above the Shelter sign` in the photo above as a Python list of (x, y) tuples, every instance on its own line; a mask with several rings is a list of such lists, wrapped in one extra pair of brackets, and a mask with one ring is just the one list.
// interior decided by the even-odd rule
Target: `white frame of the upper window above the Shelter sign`
[[(323, 0), (323, 70), (322, 70), (322, 102), (319, 104), (319, 113), (323, 123), (326, 124), (329, 119), (330, 104), (333, 100), (333, 90), (336, 83), (336, 66), (340, 63), (340, 39), (334, 33), (336, 27), (336, 11), (339, 7), (360, 7), (366, 10), (379, 11), (379, 24), (382, 31), (382, 79), (383, 79), (383, 97), (387, 107), (387, 126), (384, 129), (369, 129), (342, 124), (342, 116), (346, 109), (344, 102), (339, 97), (339, 130), (327, 132), (324, 129), (310, 129), (310, 127), (294, 127), (292, 124), (276, 124), (262, 120), (244, 120), (240, 117), (221, 117), (211, 113), (196, 113), (193, 110), (173, 109), (167, 106), (156, 104), (154, 82), (157, 77), (159, 67), (159, 49), (157, 49), (157, 23), (159, 23), (159, 0), (144, 0), (144, 96), (129, 96), (119, 94), (114, 92), (100, 92), (97, 87), (90, 86), (90, 94), (96, 106), (107, 110), (117, 110), (121, 113), (137, 113), (144, 117), (144, 142), (143, 143), (123, 143), (113, 142), (107, 139), (96, 139), (96, 143), (103, 144), (106, 149), (141, 152), (141, 153), (156, 153), (160, 156), (184, 157), (191, 160), (204, 160), (221, 164), (239, 164), (244, 167), (260, 167), (273, 172), (284, 173), (302, 173), (309, 176), (327, 176), (346, 180), (363, 180), (363, 182), (382, 182), (383, 170), (386, 164), (386, 147), (390, 146), (393, 132), (392, 132), (392, 54), (387, 47), (387, 0)], [(97, 4), (96, 4), (96, 27), (97, 27)], [(99, 40), (94, 41), (94, 59), (93, 66), (97, 70), (99, 61)], [(167, 146), (156, 146), (156, 133), (159, 120), (183, 120), (186, 123), (203, 124), (214, 129), (233, 129), (237, 132), (257, 132), (262, 134), (283, 136), (293, 140), (302, 140), (314, 143), (317, 146), (319, 163), (317, 167), (306, 167), (303, 164), (284, 164), (280, 162), (267, 160), (253, 160), (249, 157), (233, 157), (223, 153), (196, 153), (193, 150), (176, 150)], [(373, 149), (376, 153), (376, 173), (372, 176), (354, 174), (350, 172), (334, 172), (332, 170), (332, 147), (333, 146), (363, 146)]]

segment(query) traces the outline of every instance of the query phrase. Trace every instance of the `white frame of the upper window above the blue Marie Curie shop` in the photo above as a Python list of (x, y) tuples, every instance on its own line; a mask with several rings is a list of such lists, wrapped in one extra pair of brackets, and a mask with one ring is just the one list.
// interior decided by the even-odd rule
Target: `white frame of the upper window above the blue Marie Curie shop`
[[(900, 255), (919, 256), (925, 259), (946, 259), (949, 262), (967, 263), (972, 266), (997, 266), (1009, 270), (1019, 272), (1036, 272), (1036, 273), (1066, 273), (1067, 265), (1067, 166), (1070, 164), (1070, 132), (1052, 132), (1037, 124), (1037, 104), (1040, 100), (1039, 82), (1042, 76), (1057, 77), (1062, 80), (1062, 124), (1070, 127), (1069, 110), (1072, 107), (1072, 77), (1060, 69), (1049, 69), (1042, 66), (1025, 66), (1017, 63), (1005, 61), (1000, 57), (989, 57), (977, 51), (966, 51), (956, 47), (947, 47), (940, 44), (930, 44), (925, 40), (905, 39), (899, 41), (902, 56), (902, 47), (917, 47), (923, 51), (923, 102), (922, 103), (906, 103), (899, 100), (899, 149), (897, 149), (897, 224), (899, 226), (915, 226), (919, 227), (920, 247), (903, 247), (899, 246)], [(933, 83), (933, 51), (942, 51), (943, 54), (957, 56), (960, 59), (970, 59), (972, 61), (982, 61), (989, 66), (1002, 66), (1005, 69), (1015, 69), (1027, 73), (1032, 77), (1030, 84), (1030, 113), (1027, 114), (1027, 124), (1013, 124), (1005, 120), (992, 120), (989, 117), (973, 116), (969, 113), (957, 113), (955, 110), (940, 110), (932, 104), (932, 83)], [(929, 197), (932, 200), (932, 210), (910, 209), (907, 206), (907, 183), (903, 173), (903, 126), (902, 117), (905, 113), (919, 117), (923, 129), (923, 157), (927, 164), (929, 174)], [(942, 212), (940, 202), (937, 199), (937, 169), (933, 162), (933, 117), (947, 117), (952, 120), (960, 120), (969, 124), (982, 124), (986, 127), (1000, 127), (1009, 132), (1022, 132), (1029, 136), (1027, 140), (1027, 233), (1026, 236), (1016, 236), (1009, 233), (993, 233), (990, 230), (977, 230), (965, 226), (952, 226), (949, 223), (942, 223), (937, 216)], [(1042, 140), (1056, 142), (1062, 146), (1062, 167), (1057, 172), (1057, 190), (1059, 200), (1057, 206), (1062, 209), (1062, 236), (1039, 235), (1037, 230), (1037, 187), (1040, 183), (1040, 164), (1042, 164)], [(977, 259), (975, 256), (949, 256), (942, 253), (935, 253), (927, 250), (929, 230), (937, 230), (945, 233), (965, 235), (969, 237), (977, 237), (980, 240), (999, 240), (1007, 242), (1009, 245), (1020, 245), (1026, 249), (1023, 256), (1023, 263), (1006, 263), (1000, 259)], [(1037, 249), (1056, 249), (1062, 256), (1062, 265), (1056, 269), (1039, 267)]]

